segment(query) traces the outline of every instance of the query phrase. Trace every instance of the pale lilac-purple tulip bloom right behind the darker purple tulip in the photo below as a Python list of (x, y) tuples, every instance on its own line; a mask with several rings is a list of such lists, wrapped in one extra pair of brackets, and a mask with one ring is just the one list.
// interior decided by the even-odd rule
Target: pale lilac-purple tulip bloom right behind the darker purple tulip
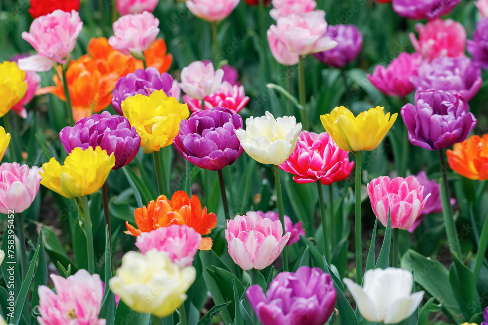
[(480, 67), (468, 57), (438, 57), (419, 68), (418, 76), (410, 77), (418, 91), (444, 90), (459, 94), (469, 101), (483, 84)]

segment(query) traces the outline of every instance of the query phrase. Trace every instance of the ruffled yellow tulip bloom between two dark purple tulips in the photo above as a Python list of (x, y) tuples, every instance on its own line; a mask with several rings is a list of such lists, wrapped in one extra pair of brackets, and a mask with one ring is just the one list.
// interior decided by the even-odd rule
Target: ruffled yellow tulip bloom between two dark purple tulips
[(175, 97), (168, 97), (162, 90), (150, 96), (136, 95), (122, 102), (122, 112), (141, 136), (144, 153), (160, 151), (173, 143), (180, 130), (180, 122), (188, 118), (186, 104)]

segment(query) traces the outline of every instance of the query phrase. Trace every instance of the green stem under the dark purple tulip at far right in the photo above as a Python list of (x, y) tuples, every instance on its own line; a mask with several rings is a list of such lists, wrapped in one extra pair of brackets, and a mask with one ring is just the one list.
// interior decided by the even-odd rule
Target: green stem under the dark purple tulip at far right
[(443, 209), (443, 210), (447, 210), (447, 211), (443, 211), (444, 223), (446, 225), (447, 241), (449, 243), (449, 249), (455, 252), (460, 259), (463, 259), (461, 245), (459, 245), (459, 241), (457, 239), (456, 222), (454, 221), (452, 206), (449, 203), (449, 198), (451, 197), (451, 195), (449, 193), (449, 182), (447, 180), (447, 164), (446, 164), (446, 159), (444, 158), (444, 151), (442, 149), (439, 149), (439, 156), (441, 158), (442, 179), (443, 179), (443, 186), (444, 186), (445, 200), (446, 200), (443, 206), (446, 206), (447, 208), (447, 209), (446, 208)]

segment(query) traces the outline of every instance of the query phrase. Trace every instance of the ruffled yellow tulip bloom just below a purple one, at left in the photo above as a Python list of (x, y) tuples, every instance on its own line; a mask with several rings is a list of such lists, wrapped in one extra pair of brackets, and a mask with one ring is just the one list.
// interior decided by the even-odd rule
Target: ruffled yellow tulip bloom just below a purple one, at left
[(41, 184), (68, 199), (81, 197), (98, 191), (114, 165), (114, 154), (100, 147), (75, 148), (63, 166), (55, 158), (42, 164)]

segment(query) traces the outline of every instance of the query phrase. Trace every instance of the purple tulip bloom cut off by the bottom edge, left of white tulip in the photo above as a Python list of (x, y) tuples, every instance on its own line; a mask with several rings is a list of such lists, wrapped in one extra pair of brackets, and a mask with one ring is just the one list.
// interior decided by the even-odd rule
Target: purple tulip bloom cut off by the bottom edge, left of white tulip
[(305, 266), (278, 273), (266, 295), (253, 285), (246, 297), (263, 325), (323, 325), (334, 311), (337, 292), (330, 274)]

